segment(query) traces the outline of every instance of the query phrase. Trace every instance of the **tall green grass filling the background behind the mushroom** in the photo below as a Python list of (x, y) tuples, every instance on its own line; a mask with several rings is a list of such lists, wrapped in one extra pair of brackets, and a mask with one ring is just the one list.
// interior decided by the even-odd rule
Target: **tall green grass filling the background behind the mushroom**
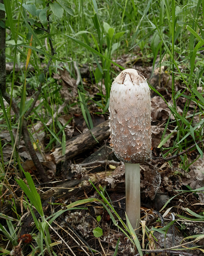
[[(26, 4), (36, 4), (36, 9), (44, 4), (44, 1), (29, 1)], [(78, 98), (74, 104), (78, 104), (82, 109), (82, 114), (89, 128), (92, 128), (92, 120), (89, 114), (88, 102), (94, 102), (105, 113), (108, 109), (109, 94), (113, 78), (117, 75), (115, 66), (123, 69), (115, 62), (117, 56), (128, 53), (135, 55), (136, 46), (140, 46), (140, 52), (145, 58), (152, 59), (153, 70), (157, 66), (166, 65), (168, 75), (171, 76), (171, 98), (172, 103), (167, 103), (174, 121), (171, 125), (176, 128), (177, 136), (171, 148), (162, 148), (166, 141), (165, 134), (160, 144), (164, 156), (177, 154), (187, 149), (195, 143), (195, 147), (202, 156), (202, 148), (197, 145), (197, 141), (203, 136), (203, 96), (197, 87), (203, 87), (202, 77), (204, 65), (202, 61), (203, 53), (203, 2), (199, 1), (142, 1), (136, 4), (134, 1), (108, 0), (96, 2), (71, 1), (74, 9), (74, 16), (64, 12), (63, 18), (59, 21), (54, 15), (50, 16), (51, 26), (49, 37), (53, 40), (54, 48), (57, 47), (57, 55), (51, 56), (48, 34), (35, 29), (31, 24), (34, 18), (29, 8), (25, 8), (23, 1), (5, 1), (7, 15), (7, 61), (13, 61), (13, 73), (8, 76), (8, 92), (11, 100), (16, 93), (21, 95), (19, 120), (12, 121), (11, 108), (4, 108), (1, 98), (1, 119), (6, 122), (2, 127), (7, 127), (11, 138), (14, 154), (14, 161), (18, 160), (18, 153), (15, 151), (12, 127), (19, 123), (19, 133), (21, 131), (22, 117), (25, 110), (32, 104), (32, 99), (27, 101), (26, 89), (28, 82), (32, 89), (37, 90), (40, 84), (42, 68), (41, 59), (47, 62), (52, 57), (52, 71), (57, 71), (60, 62), (70, 73), (75, 76), (73, 63), (70, 60), (77, 60), (78, 65), (87, 63), (89, 70), (93, 72), (95, 83), (98, 86), (97, 100), (91, 101), (86, 86), (82, 80), (78, 85)], [(112, 15), (114, 14), (114, 15)], [(32, 44), (31, 44), (32, 36)], [(48, 46), (48, 49), (46, 49)], [(28, 58), (28, 53), (31, 57)], [(159, 56), (159, 62), (156, 59)], [(165, 62), (163, 61), (165, 57)], [(21, 74), (15, 74), (14, 65), (20, 61), (29, 60), (34, 67), (33, 73), (26, 67), (21, 70)], [(16, 79), (22, 84), (16, 91), (14, 85)], [(92, 77), (93, 79), (93, 77)], [(36, 82), (32, 82), (36, 81)], [(176, 82), (183, 85), (180, 91), (175, 90)], [(92, 81), (93, 82), (93, 81)], [(103, 90), (105, 89), (105, 92)], [(156, 88), (152, 88), (156, 91)], [(30, 115), (32, 122), (40, 120), (44, 124), (45, 131), (50, 134), (50, 141), (55, 139), (56, 143), (62, 143), (64, 136), (62, 127), (54, 119), (53, 114), (62, 104), (60, 87), (51, 77), (46, 77), (42, 87), (42, 94), (39, 99), (40, 105), (34, 109)], [(158, 92), (157, 92), (158, 93)], [(159, 93), (158, 93), (159, 94)], [(178, 112), (177, 102), (179, 98), (186, 98), (186, 103), (182, 113)], [(73, 103), (72, 103), (73, 104)], [(190, 105), (194, 104), (194, 111), (189, 113)], [(40, 113), (41, 112), (41, 113)], [(195, 122), (195, 117), (199, 116), (199, 121)], [(53, 122), (46, 126), (46, 122), (53, 118)], [(58, 130), (61, 133), (58, 133)], [(165, 129), (166, 131), (166, 129)], [(51, 146), (51, 144), (50, 144)], [(182, 167), (188, 168), (187, 157), (182, 157)], [(18, 168), (20, 169), (20, 168)]]

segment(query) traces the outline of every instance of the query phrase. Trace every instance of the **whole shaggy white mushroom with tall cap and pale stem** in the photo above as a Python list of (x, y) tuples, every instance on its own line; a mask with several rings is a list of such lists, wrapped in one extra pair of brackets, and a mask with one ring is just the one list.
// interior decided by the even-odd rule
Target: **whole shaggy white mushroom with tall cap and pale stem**
[(115, 78), (109, 112), (111, 147), (125, 162), (126, 214), (139, 233), (140, 164), (151, 151), (150, 89), (141, 72), (128, 68)]

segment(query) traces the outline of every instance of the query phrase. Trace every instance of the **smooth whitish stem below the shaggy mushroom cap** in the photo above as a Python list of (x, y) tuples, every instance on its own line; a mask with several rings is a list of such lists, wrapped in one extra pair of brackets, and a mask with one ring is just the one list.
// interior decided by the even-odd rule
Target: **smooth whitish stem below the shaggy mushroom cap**
[(125, 163), (126, 213), (132, 227), (140, 227), (140, 164)]

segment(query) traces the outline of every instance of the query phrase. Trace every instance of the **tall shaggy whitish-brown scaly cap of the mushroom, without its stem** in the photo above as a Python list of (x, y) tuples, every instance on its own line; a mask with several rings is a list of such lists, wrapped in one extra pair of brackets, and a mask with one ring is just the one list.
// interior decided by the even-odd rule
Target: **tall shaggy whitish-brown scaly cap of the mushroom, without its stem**
[(110, 138), (116, 157), (126, 163), (143, 163), (151, 151), (151, 97), (143, 74), (123, 70), (110, 92)]

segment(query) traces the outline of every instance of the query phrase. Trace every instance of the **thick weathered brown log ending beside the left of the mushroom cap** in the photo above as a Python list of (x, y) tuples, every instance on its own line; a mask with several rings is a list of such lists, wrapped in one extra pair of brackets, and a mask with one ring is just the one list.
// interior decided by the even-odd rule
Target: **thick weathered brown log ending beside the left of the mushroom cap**
[(88, 149), (93, 148), (98, 143), (106, 140), (110, 136), (109, 132), (109, 120), (94, 127), (93, 129), (77, 135), (66, 142), (65, 155), (62, 155), (62, 146), (56, 146), (52, 149), (50, 156), (53, 158), (56, 164), (59, 164), (65, 159), (72, 159), (73, 157), (85, 152)]

